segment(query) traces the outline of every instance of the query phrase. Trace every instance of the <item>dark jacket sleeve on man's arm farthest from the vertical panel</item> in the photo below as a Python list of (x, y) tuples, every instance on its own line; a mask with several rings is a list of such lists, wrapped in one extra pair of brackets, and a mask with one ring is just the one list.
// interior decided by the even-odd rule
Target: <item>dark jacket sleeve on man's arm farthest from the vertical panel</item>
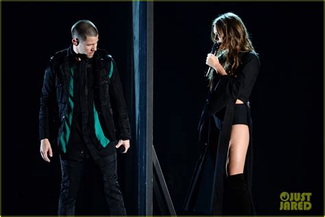
[(55, 93), (55, 75), (51, 64), (45, 69), (45, 76), (43, 82), (43, 88), (40, 93), (40, 111), (39, 111), (39, 138), (41, 139), (53, 139), (50, 138), (50, 119), (51, 109), (50, 105), (53, 102), (53, 94)]

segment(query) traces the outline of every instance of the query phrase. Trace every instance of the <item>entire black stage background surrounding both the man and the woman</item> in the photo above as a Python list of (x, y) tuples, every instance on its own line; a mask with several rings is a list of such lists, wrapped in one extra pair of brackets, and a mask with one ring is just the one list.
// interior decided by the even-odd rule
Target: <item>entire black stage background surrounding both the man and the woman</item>
[[(323, 3), (300, 2), (154, 3), (154, 146), (176, 212), (186, 214), (182, 203), (199, 155), (196, 128), (207, 94), (203, 73), (212, 46), (210, 24), (229, 11), (241, 16), (261, 58), (250, 99), (256, 212), (322, 215)], [(132, 119), (132, 3), (3, 2), (1, 16), (2, 215), (55, 215), (58, 156), (43, 161), (38, 141), (45, 67), (70, 45), (75, 21), (93, 21), (99, 48), (117, 61)], [(119, 180), (128, 214), (135, 215), (132, 157), (132, 149), (119, 155)], [(106, 214), (99, 174), (91, 166), (76, 214)], [(284, 191), (312, 192), (311, 211), (279, 211)]]

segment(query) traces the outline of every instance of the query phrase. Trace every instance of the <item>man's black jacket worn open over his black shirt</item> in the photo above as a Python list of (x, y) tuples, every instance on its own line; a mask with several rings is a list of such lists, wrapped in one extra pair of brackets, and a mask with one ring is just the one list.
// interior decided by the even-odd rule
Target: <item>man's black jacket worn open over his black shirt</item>
[[(45, 70), (44, 84), (40, 95), (39, 133), (40, 139), (60, 141), (64, 119), (67, 116), (69, 94), (69, 71), (73, 67), (73, 56), (69, 49), (56, 53)], [(93, 56), (96, 77), (94, 102), (99, 105), (98, 115), (104, 134), (110, 141), (131, 139), (128, 112), (123, 89), (115, 61), (102, 49)], [(113, 72), (109, 77), (110, 65)], [(115, 122), (117, 129), (115, 128)], [(104, 126), (103, 126), (104, 125)]]

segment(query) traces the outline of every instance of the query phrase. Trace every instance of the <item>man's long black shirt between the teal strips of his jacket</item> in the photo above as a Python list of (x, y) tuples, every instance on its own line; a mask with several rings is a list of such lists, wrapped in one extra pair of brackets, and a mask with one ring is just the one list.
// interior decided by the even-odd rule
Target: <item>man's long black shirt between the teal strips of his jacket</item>
[[(80, 159), (90, 152), (94, 159), (99, 156), (99, 140), (95, 135), (94, 125), (94, 60), (86, 55), (75, 54), (69, 49), (73, 58), (73, 116), (71, 134), (65, 157)], [(78, 60), (80, 58), (80, 60)]]

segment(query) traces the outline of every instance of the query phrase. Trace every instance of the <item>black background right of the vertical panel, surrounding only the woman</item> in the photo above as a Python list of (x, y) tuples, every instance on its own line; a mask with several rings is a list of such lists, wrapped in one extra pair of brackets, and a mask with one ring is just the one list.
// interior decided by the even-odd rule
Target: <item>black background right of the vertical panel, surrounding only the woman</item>
[[(178, 214), (199, 157), (211, 23), (234, 12), (261, 60), (250, 102), (259, 215), (323, 215), (323, 3), (154, 3), (154, 146)], [(309, 212), (281, 192), (311, 192)]]

